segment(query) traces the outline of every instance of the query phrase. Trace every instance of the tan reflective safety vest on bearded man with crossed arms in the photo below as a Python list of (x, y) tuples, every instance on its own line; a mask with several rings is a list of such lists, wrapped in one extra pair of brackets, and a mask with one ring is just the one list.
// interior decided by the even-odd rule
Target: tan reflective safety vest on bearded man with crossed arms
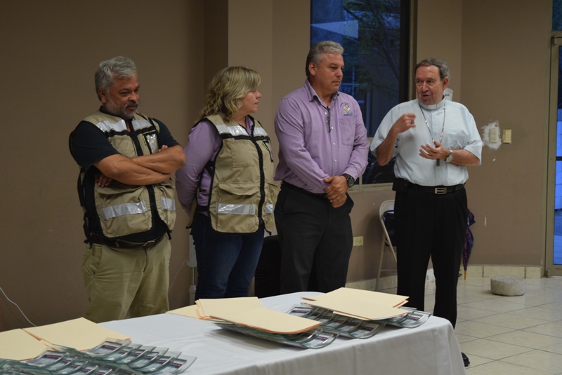
[[(112, 146), (127, 158), (156, 154), (159, 150), (159, 126), (141, 113), (137, 112), (131, 119), (132, 137), (122, 118), (98, 111), (84, 121), (102, 130)], [(81, 181), (84, 181), (83, 176)], [(159, 217), (171, 231), (176, 222), (174, 191), (172, 179), (153, 185), (126, 185), (115, 179), (106, 187), (94, 184), (96, 213), (103, 236), (115, 238), (149, 231), (152, 229), (151, 207), (156, 207)]]

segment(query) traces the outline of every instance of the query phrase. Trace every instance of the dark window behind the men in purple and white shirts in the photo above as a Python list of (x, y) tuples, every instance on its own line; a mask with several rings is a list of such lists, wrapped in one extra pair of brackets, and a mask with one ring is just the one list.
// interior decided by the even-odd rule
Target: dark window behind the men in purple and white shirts
[[(562, 0), (561, 0), (562, 1)], [(386, 113), (408, 100), (410, 0), (311, 0), (311, 46), (332, 40), (344, 46), (340, 90), (360, 105), (367, 137)], [(360, 184), (392, 182), (393, 165), (368, 155)]]

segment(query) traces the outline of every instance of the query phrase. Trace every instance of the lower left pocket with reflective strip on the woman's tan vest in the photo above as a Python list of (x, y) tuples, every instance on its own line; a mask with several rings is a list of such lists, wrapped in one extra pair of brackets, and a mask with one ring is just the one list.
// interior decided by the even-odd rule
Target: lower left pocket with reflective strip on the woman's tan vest
[(223, 182), (213, 193), (216, 199), (211, 203), (209, 213), (216, 231), (253, 233), (258, 230), (259, 186)]

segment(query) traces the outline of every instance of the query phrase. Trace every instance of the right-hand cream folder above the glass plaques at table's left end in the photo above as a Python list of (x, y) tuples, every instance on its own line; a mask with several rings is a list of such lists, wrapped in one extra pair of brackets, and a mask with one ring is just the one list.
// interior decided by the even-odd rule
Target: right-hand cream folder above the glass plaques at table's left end
[(77, 350), (88, 350), (98, 346), (107, 338), (129, 340), (129, 337), (84, 318), (66, 322), (24, 328), (33, 336), (56, 345), (68, 346)]

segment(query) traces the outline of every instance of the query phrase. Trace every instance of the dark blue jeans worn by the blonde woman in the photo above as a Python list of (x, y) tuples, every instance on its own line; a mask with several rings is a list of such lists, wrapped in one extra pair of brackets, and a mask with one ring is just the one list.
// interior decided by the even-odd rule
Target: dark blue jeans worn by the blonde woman
[(197, 254), (195, 300), (245, 297), (263, 245), (263, 225), (248, 234), (220, 233), (198, 213), (191, 228)]

